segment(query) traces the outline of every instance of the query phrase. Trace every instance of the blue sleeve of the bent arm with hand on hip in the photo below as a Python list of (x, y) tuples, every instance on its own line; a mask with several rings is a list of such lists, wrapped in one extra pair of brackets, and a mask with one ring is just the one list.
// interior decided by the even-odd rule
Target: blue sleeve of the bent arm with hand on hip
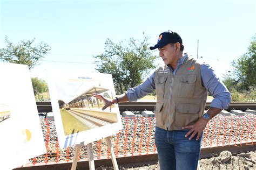
[(214, 97), (211, 102), (211, 107), (219, 109), (227, 109), (231, 102), (231, 94), (225, 84), (215, 74), (212, 67), (209, 65), (201, 65), (201, 79), (203, 86)]

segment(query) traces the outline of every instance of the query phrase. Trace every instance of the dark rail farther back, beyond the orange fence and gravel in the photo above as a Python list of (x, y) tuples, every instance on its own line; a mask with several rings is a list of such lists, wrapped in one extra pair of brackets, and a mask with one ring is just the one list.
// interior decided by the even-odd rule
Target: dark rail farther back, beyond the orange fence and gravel
[[(42, 112), (51, 112), (51, 102), (36, 102), (37, 103), (37, 110), (39, 113)], [(129, 111), (144, 111), (144, 110), (154, 110), (154, 105), (156, 105), (156, 102), (125, 102), (125, 103), (119, 103), (119, 110), (120, 112), (129, 110)], [(207, 102), (205, 109), (207, 110), (210, 108), (211, 103)], [(232, 109), (236, 110), (246, 110), (246, 109), (252, 109), (256, 110), (256, 102), (231, 102), (230, 106), (227, 111), (230, 111)]]

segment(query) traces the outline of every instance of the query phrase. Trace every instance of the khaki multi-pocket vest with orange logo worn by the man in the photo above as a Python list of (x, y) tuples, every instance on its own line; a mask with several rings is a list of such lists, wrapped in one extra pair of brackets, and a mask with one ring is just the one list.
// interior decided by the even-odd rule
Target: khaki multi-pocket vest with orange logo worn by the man
[(202, 86), (200, 69), (198, 61), (187, 58), (176, 75), (167, 66), (156, 70), (156, 126), (165, 130), (181, 130), (203, 115), (207, 90)]

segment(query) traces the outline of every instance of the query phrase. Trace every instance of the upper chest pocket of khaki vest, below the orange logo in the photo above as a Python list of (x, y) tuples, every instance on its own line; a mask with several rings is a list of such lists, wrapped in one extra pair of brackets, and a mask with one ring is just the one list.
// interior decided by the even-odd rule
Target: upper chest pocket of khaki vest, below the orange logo
[(192, 98), (197, 75), (182, 75), (180, 81), (179, 97)]

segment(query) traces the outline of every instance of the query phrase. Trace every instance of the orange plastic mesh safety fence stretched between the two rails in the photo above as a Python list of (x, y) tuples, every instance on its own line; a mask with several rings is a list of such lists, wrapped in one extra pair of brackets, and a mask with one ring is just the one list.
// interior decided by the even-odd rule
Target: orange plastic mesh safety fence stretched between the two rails
[[(131, 151), (131, 155), (134, 154), (149, 154), (150, 151), (156, 153), (157, 148), (154, 143), (154, 121), (155, 118), (145, 118), (145, 117), (134, 117), (134, 118), (123, 118), (124, 129), (120, 130), (118, 134), (116, 134), (115, 140), (112, 141), (116, 145), (113, 146), (116, 157), (120, 157), (120, 155), (127, 156), (127, 152)], [(45, 119), (46, 125), (46, 133), (45, 133), (45, 145), (46, 150), (48, 151), (42, 157), (35, 157), (31, 159), (31, 163), (33, 165), (37, 164), (37, 162), (45, 162), (48, 164), (49, 161), (60, 161), (60, 153), (64, 155), (64, 160), (69, 162), (69, 160), (73, 159), (70, 155), (73, 155), (70, 151), (73, 151), (73, 148), (67, 147), (66, 150), (59, 150), (59, 143), (57, 138), (50, 138), (50, 120)], [(224, 144), (231, 145), (234, 141), (235, 145), (242, 145), (243, 140), (246, 140), (246, 145), (253, 144), (255, 140), (255, 116), (230, 116), (230, 117), (216, 117), (208, 122), (207, 127), (205, 129), (204, 134), (204, 147), (206, 145), (212, 146), (214, 142), (218, 145), (224, 146)], [(133, 133), (132, 133), (133, 132)], [(125, 134), (125, 135), (124, 135)], [(222, 141), (221, 141), (222, 140)], [(240, 140), (240, 142), (239, 142)], [(52, 141), (56, 141), (55, 145), (52, 145)], [(131, 141), (131, 147), (129, 150), (129, 141)], [(102, 140), (94, 143), (96, 148), (97, 158), (100, 159), (104, 156), (110, 158), (110, 150), (107, 147), (107, 152), (102, 151)], [(122, 145), (121, 145), (122, 144)], [(138, 147), (137, 147), (138, 145)], [(123, 146), (123, 147), (120, 147)], [(54, 154), (51, 152), (54, 147)], [(94, 148), (95, 148), (94, 147)], [(122, 149), (120, 149), (122, 148)], [(84, 148), (79, 151), (78, 160), (80, 158), (86, 158), (84, 153)], [(61, 157), (63, 158), (63, 157)], [(62, 159), (63, 160), (63, 159)]]

